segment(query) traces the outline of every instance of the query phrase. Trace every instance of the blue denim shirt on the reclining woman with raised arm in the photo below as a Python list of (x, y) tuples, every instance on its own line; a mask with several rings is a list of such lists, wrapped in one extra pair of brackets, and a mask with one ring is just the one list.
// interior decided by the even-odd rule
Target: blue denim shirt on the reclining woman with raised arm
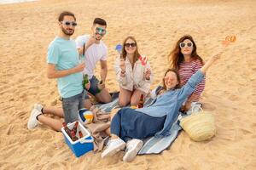
[(164, 94), (160, 94), (150, 105), (136, 110), (143, 112), (148, 116), (166, 116), (166, 122), (163, 129), (160, 130), (160, 132), (155, 133), (155, 137), (163, 137), (171, 134), (170, 130), (172, 123), (177, 117), (179, 108), (182, 106), (185, 99), (193, 93), (196, 85), (201, 82), (203, 77), (204, 75), (199, 70), (189, 78), (189, 81), (183, 86), (183, 88), (169, 90)]

